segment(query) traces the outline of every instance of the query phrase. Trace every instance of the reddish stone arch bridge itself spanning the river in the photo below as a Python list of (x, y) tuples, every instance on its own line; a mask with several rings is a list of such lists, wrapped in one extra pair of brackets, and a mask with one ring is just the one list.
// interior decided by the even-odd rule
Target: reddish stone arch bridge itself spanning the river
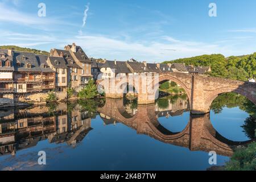
[[(115, 85), (120, 84), (122, 79), (116, 79)], [(135, 84), (137, 81), (137, 85)], [(189, 103), (191, 105), (191, 112), (193, 114), (205, 114), (209, 113), (210, 105), (213, 100), (222, 93), (235, 92), (245, 96), (256, 105), (256, 83), (243, 82), (236, 80), (229, 80), (224, 78), (201, 76), (201, 75), (190, 75), (185, 73), (160, 73), (159, 76), (153, 77), (152, 81), (147, 85), (162, 84), (165, 81), (174, 81), (179, 84), (187, 93)], [(102, 84), (104, 80), (98, 80), (98, 84), (102, 85), (104, 89), (110, 90), (110, 85), (107, 86)], [(140, 77), (138, 80), (130, 80), (127, 78), (126, 85), (132, 85), (136, 87), (138, 91), (138, 104), (152, 104), (155, 102), (155, 97), (150, 97), (149, 92), (142, 92), (145, 87), (143, 85), (146, 80)], [(108, 87), (108, 88), (105, 88)], [(123, 90), (125, 88), (122, 88)], [(105, 92), (107, 98), (122, 98), (122, 93)], [(155, 94), (155, 93), (153, 93)], [(153, 98), (153, 99), (152, 99)]]

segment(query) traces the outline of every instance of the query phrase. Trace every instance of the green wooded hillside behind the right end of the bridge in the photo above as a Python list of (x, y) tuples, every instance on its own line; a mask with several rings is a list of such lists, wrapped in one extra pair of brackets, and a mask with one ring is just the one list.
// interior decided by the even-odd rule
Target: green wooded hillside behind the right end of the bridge
[(230, 78), (232, 80), (248, 81), (249, 78), (256, 77), (256, 52), (245, 56), (225, 57), (221, 54), (202, 55), (188, 57), (167, 63), (185, 63), (186, 65), (210, 66), (212, 72), (210, 76)]

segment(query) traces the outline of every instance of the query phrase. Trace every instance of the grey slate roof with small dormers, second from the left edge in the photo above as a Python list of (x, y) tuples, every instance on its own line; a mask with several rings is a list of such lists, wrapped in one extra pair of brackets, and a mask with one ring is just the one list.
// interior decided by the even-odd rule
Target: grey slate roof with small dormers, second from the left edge
[[(34, 53), (14, 51), (14, 69), (19, 72), (42, 72)], [(17, 63), (21, 66), (18, 67)], [(31, 64), (31, 68), (27, 65)]]

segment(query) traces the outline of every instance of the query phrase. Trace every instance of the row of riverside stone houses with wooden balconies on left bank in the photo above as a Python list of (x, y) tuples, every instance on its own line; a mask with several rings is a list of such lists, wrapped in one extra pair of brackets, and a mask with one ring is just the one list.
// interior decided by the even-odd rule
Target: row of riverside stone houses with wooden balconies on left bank
[[(79, 88), (92, 78), (91, 61), (80, 46), (52, 49), (50, 56), (0, 49), (0, 104), (13, 105), (34, 93)], [(28, 98), (28, 101), (38, 101)], [(40, 94), (43, 100), (46, 94)], [(65, 94), (61, 97), (65, 98)]]

